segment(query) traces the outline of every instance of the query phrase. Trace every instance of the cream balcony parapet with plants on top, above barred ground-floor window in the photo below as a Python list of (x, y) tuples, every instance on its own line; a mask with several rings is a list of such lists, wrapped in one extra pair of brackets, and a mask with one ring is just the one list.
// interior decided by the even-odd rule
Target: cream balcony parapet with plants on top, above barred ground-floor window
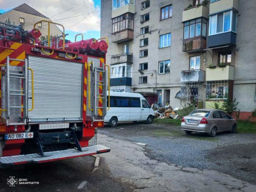
[(235, 67), (206, 68), (206, 81), (234, 80)]

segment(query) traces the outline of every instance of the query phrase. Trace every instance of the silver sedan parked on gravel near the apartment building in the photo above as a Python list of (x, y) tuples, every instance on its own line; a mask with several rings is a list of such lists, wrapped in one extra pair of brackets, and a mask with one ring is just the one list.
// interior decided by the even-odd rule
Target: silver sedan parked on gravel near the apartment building
[(208, 133), (215, 137), (216, 133), (223, 131), (236, 132), (237, 123), (225, 111), (217, 109), (197, 109), (182, 117), (181, 129), (188, 135), (192, 132)]

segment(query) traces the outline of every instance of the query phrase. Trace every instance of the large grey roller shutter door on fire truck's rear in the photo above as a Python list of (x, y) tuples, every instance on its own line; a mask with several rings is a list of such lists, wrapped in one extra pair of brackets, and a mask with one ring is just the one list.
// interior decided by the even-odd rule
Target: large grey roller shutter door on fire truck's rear
[[(82, 113), (82, 64), (29, 56), (34, 71), (34, 109), (30, 121), (80, 120)], [(29, 73), (29, 98), (31, 73)], [(29, 109), (32, 101), (29, 99)]]

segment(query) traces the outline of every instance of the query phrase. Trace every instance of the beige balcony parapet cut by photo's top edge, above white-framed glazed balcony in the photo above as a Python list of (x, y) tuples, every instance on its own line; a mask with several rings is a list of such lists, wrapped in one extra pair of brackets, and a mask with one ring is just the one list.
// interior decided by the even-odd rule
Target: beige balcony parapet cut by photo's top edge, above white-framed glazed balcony
[(228, 10), (234, 8), (238, 10), (238, 0), (219, 0), (213, 3), (210, 3), (210, 11), (209, 14), (214, 14), (217, 12), (221, 12), (224, 10)]

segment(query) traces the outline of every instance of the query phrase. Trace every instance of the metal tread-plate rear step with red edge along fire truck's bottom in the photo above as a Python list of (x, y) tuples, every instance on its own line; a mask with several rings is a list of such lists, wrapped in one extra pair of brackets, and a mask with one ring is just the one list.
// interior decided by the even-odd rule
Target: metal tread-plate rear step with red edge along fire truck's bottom
[(63, 151), (46, 152), (44, 153), (45, 157), (42, 157), (39, 154), (1, 157), (0, 167), (4, 168), (4, 167), (9, 167), (14, 165), (44, 163), (44, 162), (57, 161), (57, 160), (75, 158), (75, 157), (83, 157), (86, 155), (95, 155), (95, 154), (107, 153), (107, 152), (110, 152), (109, 147), (105, 147), (102, 145), (95, 145), (91, 147), (83, 147), (82, 151), (78, 151), (76, 149), (68, 149)]

